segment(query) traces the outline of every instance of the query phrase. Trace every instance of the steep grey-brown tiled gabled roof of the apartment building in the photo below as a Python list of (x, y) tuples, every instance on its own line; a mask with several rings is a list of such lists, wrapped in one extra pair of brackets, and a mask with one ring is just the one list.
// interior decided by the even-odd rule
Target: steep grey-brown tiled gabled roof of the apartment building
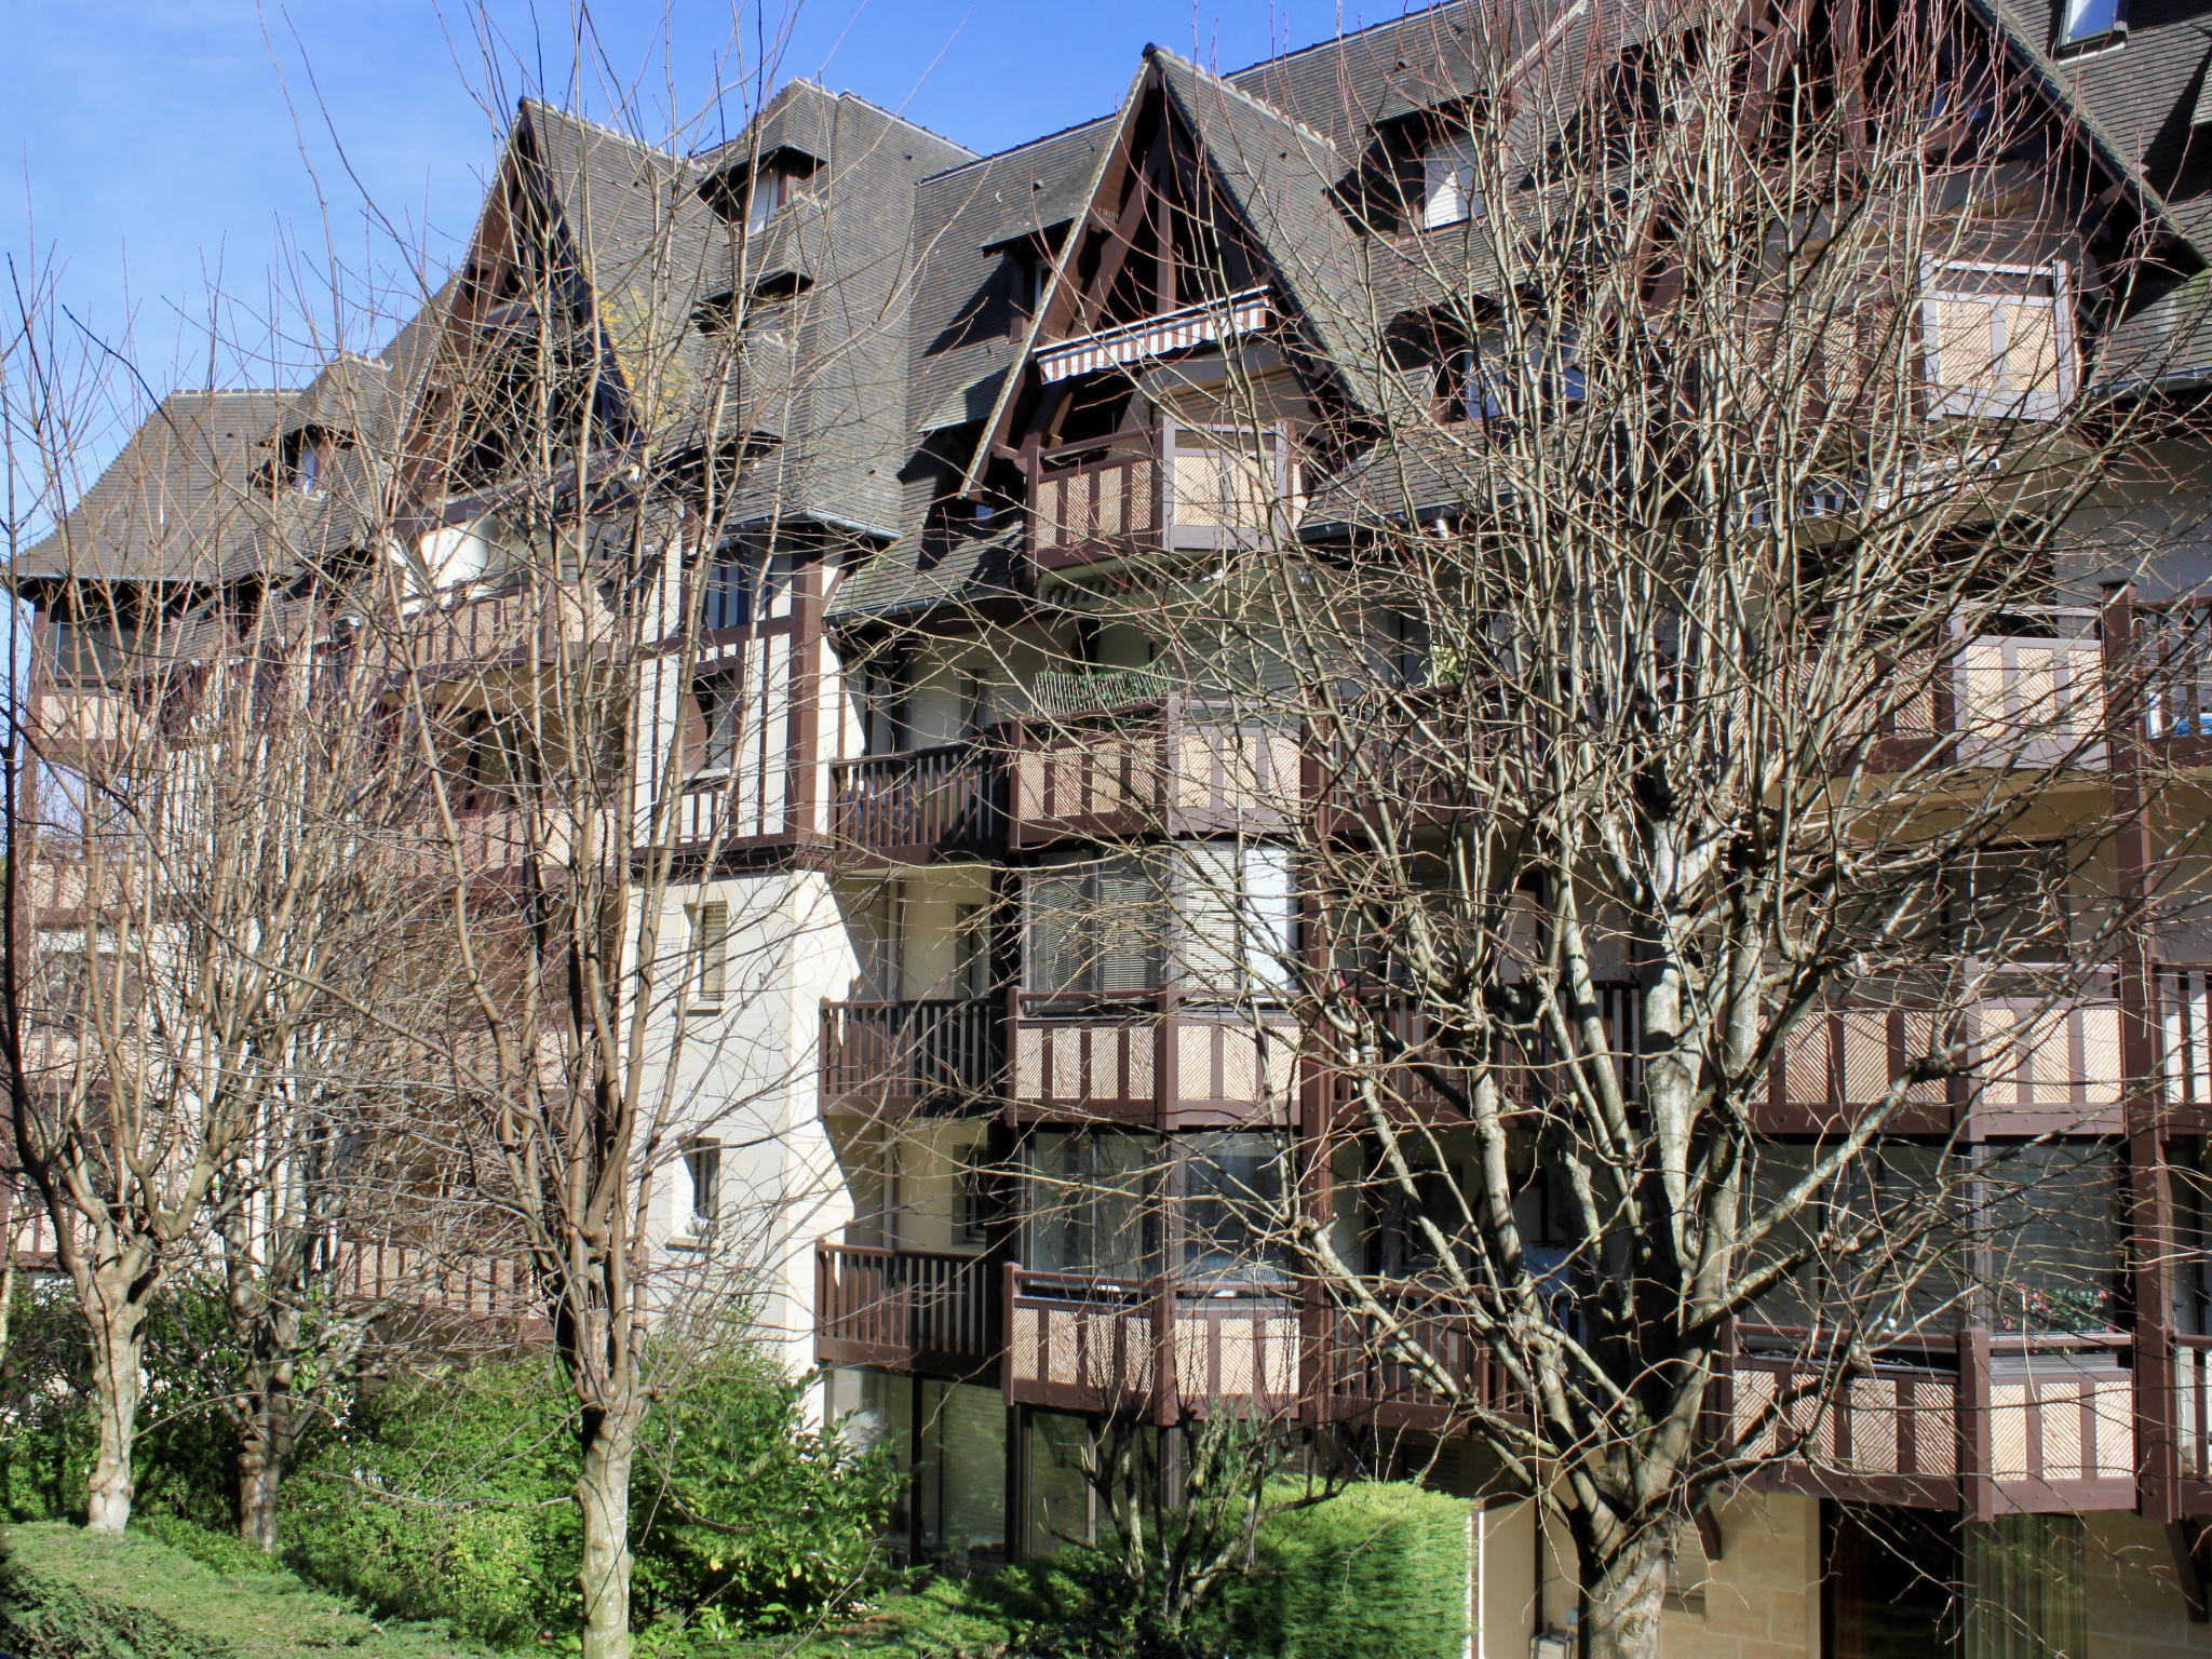
[[(2053, 58), (2055, 0), (1973, 2), (2020, 62), (2073, 102), (2104, 164), (2172, 232), (2170, 270), (2137, 296), (2121, 347), (2132, 361), (2157, 356), (2212, 378), (2203, 325), (2212, 276), (2199, 250), (2212, 248), (2212, 128), (2197, 126), (2199, 108), (2212, 111), (2212, 0), (2135, 0), (2126, 46), (2079, 60)], [(1157, 46), (1133, 69), (1137, 84), (1164, 84), (1199, 137), (1232, 210), (1272, 259), (1283, 310), (1347, 376), (1349, 407), (1385, 411), (1416, 387), (1360, 369), (1354, 343), (1374, 338), (1378, 312), (1422, 310), (1442, 299), (1442, 283), (1480, 272), (1462, 272), (1464, 250), (1453, 252), (1444, 232), (1367, 237), (1347, 219), (1338, 190), (1369, 159), (1376, 126), (1484, 91), (1478, 62), (1571, 84), (1588, 51), (1619, 44), (1624, 27), (1617, 0), (1449, 0), (1228, 75)], [(947, 473), (971, 467), (1013, 396), (1011, 369), (1033, 332), (1020, 292), (1029, 261), (1086, 210), (1133, 113), (1135, 97), (1124, 97), (1097, 119), (973, 157), (865, 100), (799, 80), (750, 131), (690, 157), (526, 102), (511, 161), (538, 168), (562, 237), (591, 274), (591, 305), (637, 414), (666, 438), (732, 396), (726, 429), (763, 442), (739, 480), (741, 520), (814, 518), (885, 544), (836, 595), (836, 615), (856, 619), (1002, 591), (1009, 529), (947, 544), (925, 540), (922, 522)], [(814, 188), (745, 234), (723, 223), (701, 186), (770, 153), (807, 157)], [(763, 279), (796, 290), (781, 330), (732, 341), (697, 325), (701, 305)], [(438, 296), (376, 365), (341, 358), (288, 407), (261, 409), (252, 436), (332, 425), (325, 416), (352, 405), (383, 422), (363, 456), (389, 449), (383, 440), (416, 403), (442, 312)], [(150, 427), (126, 453), (128, 467), (117, 462), (126, 476), (166, 478), (173, 465)], [(263, 557), (285, 542), (343, 546), (365, 533), (392, 480), (369, 476), (363, 456), (341, 456), (343, 487), (319, 498), (321, 518), (307, 522), (305, 509), (285, 504), (292, 518), (265, 526)], [(219, 471), (201, 482), (212, 489)], [(124, 533), (113, 507), (124, 493), (102, 478), (71, 515), (73, 535), (104, 540), (115, 529), (113, 557), (159, 573), (168, 553)], [(51, 546), (18, 568), (53, 568)]]

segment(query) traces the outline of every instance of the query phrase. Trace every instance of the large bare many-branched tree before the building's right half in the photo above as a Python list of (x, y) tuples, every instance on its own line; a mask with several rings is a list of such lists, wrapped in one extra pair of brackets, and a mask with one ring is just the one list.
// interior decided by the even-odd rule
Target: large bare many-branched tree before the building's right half
[[(2108, 1157), (2152, 1073), (2112, 847), (2190, 838), (2106, 783), (2132, 635), (2064, 575), (2154, 555), (2179, 416), (2124, 327), (2152, 241), (1964, 9), (1469, 15), (1413, 117), (1347, 113), (1352, 177), (1155, 55), (1031, 343), (1172, 294), (1232, 345), (1009, 394), (964, 484), (1026, 493), (1040, 571), (969, 624), (1006, 684), (1042, 619), (1148, 646), (1093, 710), (1181, 692), (1031, 688), (1022, 752), (1137, 830), (1075, 931), (1259, 1053), (1294, 1018), (1307, 1133), (1243, 1201), (1323, 1391), (1471, 1433), (1586, 1650), (1652, 1652), (1683, 1528), (1876, 1356), (2126, 1343), (2121, 1177), (2068, 1137)], [(1108, 489), (1150, 465), (1148, 540)], [(1214, 838), (1159, 847), (1194, 752)], [(2090, 1106), (2024, 1095), (2081, 1020)]]

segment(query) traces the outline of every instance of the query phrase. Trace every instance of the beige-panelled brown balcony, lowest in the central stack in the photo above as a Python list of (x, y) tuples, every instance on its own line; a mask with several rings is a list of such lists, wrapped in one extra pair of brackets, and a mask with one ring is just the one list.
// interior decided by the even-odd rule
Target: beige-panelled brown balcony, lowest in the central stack
[(1006, 1402), (1146, 1411), (1290, 1411), (1301, 1321), (1287, 1285), (1006, 1270)]

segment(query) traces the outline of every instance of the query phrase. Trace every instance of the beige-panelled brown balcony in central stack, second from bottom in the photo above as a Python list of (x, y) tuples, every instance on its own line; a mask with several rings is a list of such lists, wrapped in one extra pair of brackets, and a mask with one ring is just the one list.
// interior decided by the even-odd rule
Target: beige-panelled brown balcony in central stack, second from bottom
[(1175, 991), (1022, 991), (1011, 1046), (1006, 1099), (1024, 1119), (1290, 1121), (1298, 1031), (1287, 1013), (1186, 1004)]

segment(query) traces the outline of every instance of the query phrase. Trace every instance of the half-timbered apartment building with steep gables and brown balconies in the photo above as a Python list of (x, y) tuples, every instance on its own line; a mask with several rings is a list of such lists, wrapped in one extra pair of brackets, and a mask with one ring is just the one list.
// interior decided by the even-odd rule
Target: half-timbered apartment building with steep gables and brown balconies
[[(664, 914), (690, 984), (668, 1064), (701, 1102), (655, 1192), (657, 1248), (675, 1261), (768, 1217), (759, 1316), (794, 1367), (827, 1369), (830, 1416), (896, 1438), (916, 1557), (1097, 1535), (1084, 1464), (1106, 1425), (1144, 1422), (1172, 1471), (1177, 1433), (1252, 1411), (1478, 1500), (1482, 1650), (1571, 1650), (1566, 1540), (1498, 1498), (1451, 1402), (1363, 1347), (1263, 1237), (1312, 1203), (1378, 1294), (1425, 1270), (1416, 1230), (1360, 1221), (1298, 1161), (1343, 1135), (1343, 1102), (1283, 967), (1305, 894), (1285, 825), (1314, 757), (1254, 714), (1281, 661), (1228, 622), (1208, 633), (1201, 602), (1170, 648), (1128, 602), (1133, 580), (1232, 551), (1358, 540), (1358, 469), (1316, 434), (1385, 396), (1356, 385), (1349, 319), (1422, 312), (1416, 276), (1453, 237), (1464, 265), (1486, 204), (1453, 122), (1504, 97), (1475, 84), (1498, 60), (1469, 49), (1500, 15), (1447, 4), (1230, 77), (1150, 49), (1121, 108), (993, 157), (807, 82), (688, 157), (524, 104), (467, 270), (392, 347), (299, 394), (175, 394), (15, 566), (40, 690), (77, 703), (128, 686), (142, 617), (219, 586), (170, 546), (234, 544), (243, 568), (252, 549), (392, 538), (431, 591), (462, 593), (456, 613), (495, 606), (526, 460), (451, 442), (487, 422), (456, 416), (473, 383), (447, 365), (502, 349), (529, 288), (504, 272), (533, 237), (591, 272), (575, 316), (606, 358), (599, 396), (675, 407), (677, 427), (726, 414), (726, 504), (661, 597), (697, 602), (697, 648), (639, 668), (637, 799), (688, 860)], [(1582, 4), (1513, 22), (1511, 64), (1597, 38)], [(2006, 0), (1973, 27), (2046, 100), (2051, 155), (2095, 179), (2081, 201), (2128, 219), (2075, 204), (2053, 223), (2044, 201), (2004, 259), (1922, 272), (1929, 341), (1995, 325), (1997, 363), (2028, 341), (2051, 376), (2008, 385), (1986, 352), (1944, 363), (1922, 341), (1931, 418), (2044, 418), (2077, 372), (2068, 307), (2146, 241), (2157, 274), (2104, 327), (2157, 361), (2146, 396), (2185, 400), (2212, 356), (2190, 332), (2212, 11)], [(1345, 181), (1376, 177), (1385, 206), (1347, 212)], [(1237, 234), (1192, 246), (1201, 219)], [(1484, 418), (1473, 372), (1438, 385), (1425, 418)], [(2143, 768), (2203, 763), (2190, 664), (2212, 542), (2185, 489), (2203, 458), (2168, 456), (2170, 500), (2088, 509), (2168, 531), (2128, 553), (2084, 538), (2033, 615), (1960, 639), (1924, 719), (1889, 734), (1898, 754), (1955, 741), (2055, 772), (2062, 816), (2110, 812)], [(1453, 502), (1407, 509), (1433, 522)], [(1374, 675), (1433, 675), (1418, 637), (1356, 644)], [(2108, 666), (2137, 646), (2161, 668), (2108, 730)], [(2031, 708), (2044, 748), (2022, 741)], [(502, 810), (480, 807), (487, 867), (511, 845)], [(2077, 907), (2148, 858), (2115, 836), (2070, 872)], [(1896, 1124), (1920, 1144), (2055, 1139), (2084, 1181), (2132, 1183), (2077, 1263), (2106, 1316), (1969, 1314), (1874, 1352), (1809, 1447), (1701, 1517), (1668, 1650), (2212, 1646), (2205, 1230), (2146, 1175), (2194, 1166), (2212, 1133), (2212, 1002), (2190, 929), (2137, 945), (2139, 969), (2055, 1013), (1973, 1000), (1978, 1033), (2037, 1035), (2004, 1048), (2002, 1077), (1922, 1086)], [(1863, 1110), (1911, 1040), (1902, 1011), (1807, 1020), (1759, 1133), (1785, 1146)], [(1464, 1110), (1436, 1102), (1431, 1128), (1442, 1166), (1473, 1155)], [(1796, 1367), (1745, 1325), (1714, 1409), (1756, 1422)], [(2033, 1582), (1984, 1586), (2004, 1619), (1960, 1632), (1953, 1586), (1993, 1571), (2006, 1526)]]

